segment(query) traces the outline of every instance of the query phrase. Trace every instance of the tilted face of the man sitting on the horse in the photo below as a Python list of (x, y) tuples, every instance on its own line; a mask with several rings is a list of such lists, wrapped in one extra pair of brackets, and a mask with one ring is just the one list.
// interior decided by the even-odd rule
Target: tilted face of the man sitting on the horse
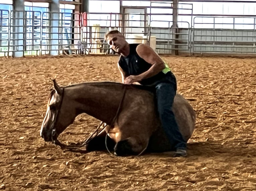
[(107, 37), (107, 42), (110, 48), (117, 53), (120, 53), (127, 43), (122, 34), (109, 34)]

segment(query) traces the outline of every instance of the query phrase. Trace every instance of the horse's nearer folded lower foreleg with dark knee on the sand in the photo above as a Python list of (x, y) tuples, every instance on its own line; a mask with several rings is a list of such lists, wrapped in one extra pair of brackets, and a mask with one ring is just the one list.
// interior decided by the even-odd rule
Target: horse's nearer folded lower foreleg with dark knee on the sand
[(140, 140), (139, 138), (129, 137), (118, 141), (114, 147), (115, 155), (139, 155), (146, 150), (148, 140)]

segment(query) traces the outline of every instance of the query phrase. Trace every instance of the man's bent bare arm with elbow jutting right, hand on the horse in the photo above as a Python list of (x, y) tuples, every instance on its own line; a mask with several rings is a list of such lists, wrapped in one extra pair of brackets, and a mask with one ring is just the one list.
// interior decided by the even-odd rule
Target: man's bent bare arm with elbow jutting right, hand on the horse
[[(145, 44), (140, 44), (136, 48), (137, 54), (144, 59), (146, 62), (151, 64), (152, 66), (140, 75), (137, 76), (129, 76), (125, 78), (126, 84), (131, 84), (133, 82), (140, 82), (143, 79), (150, 78), (155, 76), (163, 69), (165, 69), (164, 61), (159, 57), (159, 55), (149, 46)], [(139, 64), (139, 63), (138, 63)]]

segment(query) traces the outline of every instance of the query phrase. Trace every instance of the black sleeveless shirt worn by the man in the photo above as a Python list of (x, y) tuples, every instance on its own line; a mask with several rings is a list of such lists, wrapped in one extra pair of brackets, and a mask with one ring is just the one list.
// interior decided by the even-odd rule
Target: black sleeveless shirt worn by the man
[[(129, 44), (129, 45), (130, 45), (129, 55), (127, 57), (124, 57), (121, 55), (118, 61), (118, 64), (122, 68), (122, 70), (127, 74), (127, 76), (130, 76), (130, 75), (137, 76), (142, 74), (143, 72), (146, 72), (152, 65), (147, 63), (144, 59), (142, 59), (137, 54), (136, 47), (139, 44)], [(174, 82), (173, 80), (176, 83), (176, 79), (170, 71), (167, 72), (166, 74), (164, 74), (164, 72), (161, 71), (155, 76), (152, 76), (147, 79), (143, 79), (139, 83), (142, 85), (156, 85), (159, 82), (173, 83)]]

